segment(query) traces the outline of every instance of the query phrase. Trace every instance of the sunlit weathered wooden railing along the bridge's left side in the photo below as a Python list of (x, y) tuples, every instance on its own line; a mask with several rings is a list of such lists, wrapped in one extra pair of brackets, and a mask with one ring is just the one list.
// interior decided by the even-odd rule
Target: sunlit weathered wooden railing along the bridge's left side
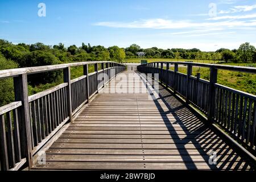
[[(94, 72), (88, 73), (88, 65)], [(98, 64), (101, 70), (98, 71)], [(84, 76), (71, 80), (71, 67), (83, 66)], [(28, 96), (27, 75), (63, 69), (64, 83)], [(82, 62), (0, 71), (13, 77), (15, 102), (0, 107), (1, 171), (30, 168), (32, 158), (99, 89), (125, 66), (114, 62)], [(105, 73), (108, 76), (101, 76)]]

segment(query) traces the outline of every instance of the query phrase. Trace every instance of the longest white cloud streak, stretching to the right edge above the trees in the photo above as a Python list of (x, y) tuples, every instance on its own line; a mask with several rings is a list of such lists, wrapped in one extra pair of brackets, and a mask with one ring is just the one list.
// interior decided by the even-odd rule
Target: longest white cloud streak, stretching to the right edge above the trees
[(191, 22), (189, 20), (174, 21), (171, 19), (142, 19), (133, 22), (98, 22), (96, 26), (112, 28), (151, 28), (151, 29), (180, 29), (180, 28), (226, 28), (252, 27), (256, 22), (222, 21), (222, 22)]

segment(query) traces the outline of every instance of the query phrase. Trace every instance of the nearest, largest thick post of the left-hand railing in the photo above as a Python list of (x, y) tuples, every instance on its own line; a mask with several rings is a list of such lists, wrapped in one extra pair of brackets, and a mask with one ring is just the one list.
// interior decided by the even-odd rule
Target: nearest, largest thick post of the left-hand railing
[(14, 77), (15, 101), (22, 101), (19, 109), (20, 149), (22, 158), (26, 158), (28, 169), (32, 167), (32, 135), (30, 105), (28, 103), (27, 74)]

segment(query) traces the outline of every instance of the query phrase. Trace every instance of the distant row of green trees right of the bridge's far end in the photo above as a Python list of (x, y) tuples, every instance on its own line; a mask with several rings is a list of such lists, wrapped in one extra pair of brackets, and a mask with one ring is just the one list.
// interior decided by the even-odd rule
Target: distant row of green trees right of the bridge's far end
[(256, 49), (250, 43), (241, 44), (238, 49), (221, 48), (215, 52), (204, 52), (200, 49), (160, 49), (157, 47), (143, 49), (137, 44), (132, 44), (125, 48), (127, 58), (137, 57), (138, 52), (144, 52), (145, 58), (171, 58), (171, 59), (191, 59), (191, 60), (216, 60), (233, 63), (256, 63)]

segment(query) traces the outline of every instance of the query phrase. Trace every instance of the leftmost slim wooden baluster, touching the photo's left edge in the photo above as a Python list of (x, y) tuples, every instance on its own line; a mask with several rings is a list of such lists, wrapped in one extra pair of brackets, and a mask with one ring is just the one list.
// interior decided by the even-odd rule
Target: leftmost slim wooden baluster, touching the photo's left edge
[(7, 153), (7, 142), (5, 132), (5, 116), (0, 117), (0, 159), (1, 159), (1, 170), (6, 171), (9, 169), (8, 153)]

